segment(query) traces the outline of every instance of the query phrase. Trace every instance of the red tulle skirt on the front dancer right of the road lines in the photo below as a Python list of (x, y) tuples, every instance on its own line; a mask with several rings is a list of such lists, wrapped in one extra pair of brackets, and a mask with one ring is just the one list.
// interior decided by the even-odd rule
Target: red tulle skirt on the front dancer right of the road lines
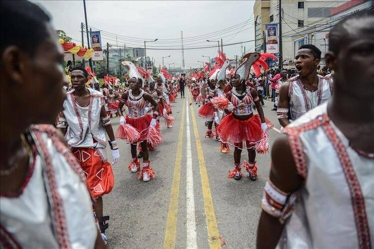
[[(270, 121), (266, 121), (266, 124), (268, 128), (274, 126)], [(246, 143), (246, 149), (255, 148), (263, 139), (261, 119), (258, 114), (247, 120), (238, 120), (230, 113), (223, 117), (217, 126), (217, 133), (222, 142), (238, 148), (243, 147), (243, 142)]]

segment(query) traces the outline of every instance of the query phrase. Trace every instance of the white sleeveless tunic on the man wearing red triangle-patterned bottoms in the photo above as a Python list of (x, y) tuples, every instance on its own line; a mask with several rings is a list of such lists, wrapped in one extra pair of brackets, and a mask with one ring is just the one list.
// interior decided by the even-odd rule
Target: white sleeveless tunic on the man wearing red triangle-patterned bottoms
[(87, 107), (81, 107), (76, 102), (74, 89), (67, 93), (63, 105), (63, 113), (68, 123), (65, 139), (71, 147), (102, 148), (100, 152), (105, 155), (106, 133), (100, 118), (104, 96), (98, 91), (87, 89), (91, 95)]

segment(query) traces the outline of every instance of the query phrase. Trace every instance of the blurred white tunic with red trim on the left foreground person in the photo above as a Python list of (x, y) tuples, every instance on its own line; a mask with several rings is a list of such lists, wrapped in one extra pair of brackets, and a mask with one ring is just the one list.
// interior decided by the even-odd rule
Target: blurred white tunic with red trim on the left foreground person
[(19, 193), (1, 193), (1, 248), (93, 248), (97, 228), (83, 171), (47, 124), (32, 125), (35, 142)]

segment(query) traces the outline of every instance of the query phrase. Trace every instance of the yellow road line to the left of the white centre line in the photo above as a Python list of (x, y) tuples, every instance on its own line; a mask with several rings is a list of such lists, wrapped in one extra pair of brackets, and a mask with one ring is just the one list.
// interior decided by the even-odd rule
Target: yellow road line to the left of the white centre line
[(172, 190), (170, 193), (168, 220), (165, 229), (164, 248), (176, 247), (177, 235), (177, 220), (178, 220), (178, 200), (179, 200), (179, 186), (181, 183), (181, 160), (182, 160), (182, 144), (183, 144), (183, 129), (185, 126), (185, 108), (186, 101), (183, 102), (182, 120), (179, 128), (179, 140), (177, 145), (176, 161), (174, 166), (174, 174), (172, 181)]

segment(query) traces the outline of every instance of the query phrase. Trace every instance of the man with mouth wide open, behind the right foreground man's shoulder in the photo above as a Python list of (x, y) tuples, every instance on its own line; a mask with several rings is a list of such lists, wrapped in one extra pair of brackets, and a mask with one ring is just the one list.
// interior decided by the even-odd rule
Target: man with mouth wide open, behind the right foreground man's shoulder
[(299, 75), (289, 79), (279, 90), (277, 117), (283, 127), (331, 98), (333, 79), (317, 74), (320, 60), (321, 51), (316, 46), (300, 46), (296, 55)]

